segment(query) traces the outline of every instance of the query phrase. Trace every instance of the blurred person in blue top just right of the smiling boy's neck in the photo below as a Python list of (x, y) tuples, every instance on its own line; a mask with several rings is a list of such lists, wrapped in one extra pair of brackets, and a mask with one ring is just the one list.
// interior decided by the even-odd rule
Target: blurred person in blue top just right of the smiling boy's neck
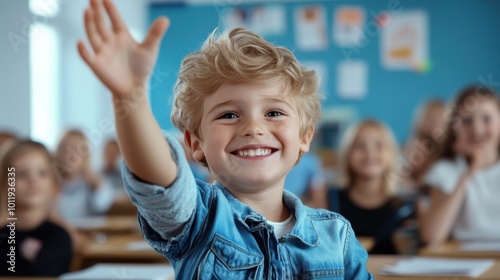
[(306, 153), (288, 172), (285, 189), (300, 197), (313, 208), (328, 208), (326, 184), (323, 166), (316, 154)]

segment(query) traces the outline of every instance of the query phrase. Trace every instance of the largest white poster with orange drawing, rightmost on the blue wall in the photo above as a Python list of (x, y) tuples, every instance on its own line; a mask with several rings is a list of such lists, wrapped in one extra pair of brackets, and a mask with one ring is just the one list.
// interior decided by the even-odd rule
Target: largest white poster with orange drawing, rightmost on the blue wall
[(427, 13), (422, 10), (391, 15), (382, 28), (382, 66), (391, 70), (418, 70), (429, 61)]

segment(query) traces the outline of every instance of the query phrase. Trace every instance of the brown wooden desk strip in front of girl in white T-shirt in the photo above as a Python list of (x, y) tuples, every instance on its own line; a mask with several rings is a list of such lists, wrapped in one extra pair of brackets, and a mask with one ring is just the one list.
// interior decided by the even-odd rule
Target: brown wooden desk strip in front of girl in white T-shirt
[(461, 246), (460, 242), (450, 241), (423, 248), (418, 254), (425, 257), (500, 259), (500, 251), (462, 251)]

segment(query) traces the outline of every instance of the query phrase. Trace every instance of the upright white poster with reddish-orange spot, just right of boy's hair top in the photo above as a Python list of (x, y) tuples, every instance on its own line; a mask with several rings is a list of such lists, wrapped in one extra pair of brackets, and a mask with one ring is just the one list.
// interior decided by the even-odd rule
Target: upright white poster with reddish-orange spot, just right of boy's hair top
[(295, 45), (302, 51), (328, 48), (326, 16), (322, 6), (303, 6), (295, 11)]

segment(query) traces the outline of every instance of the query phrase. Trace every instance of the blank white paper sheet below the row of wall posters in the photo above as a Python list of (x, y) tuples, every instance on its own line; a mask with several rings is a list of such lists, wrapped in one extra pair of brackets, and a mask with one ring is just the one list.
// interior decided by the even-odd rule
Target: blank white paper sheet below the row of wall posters
[(363, 60), (337, 64), (337, 94), (344, 99), (363, 99), (368, 90), (368, 65)]

